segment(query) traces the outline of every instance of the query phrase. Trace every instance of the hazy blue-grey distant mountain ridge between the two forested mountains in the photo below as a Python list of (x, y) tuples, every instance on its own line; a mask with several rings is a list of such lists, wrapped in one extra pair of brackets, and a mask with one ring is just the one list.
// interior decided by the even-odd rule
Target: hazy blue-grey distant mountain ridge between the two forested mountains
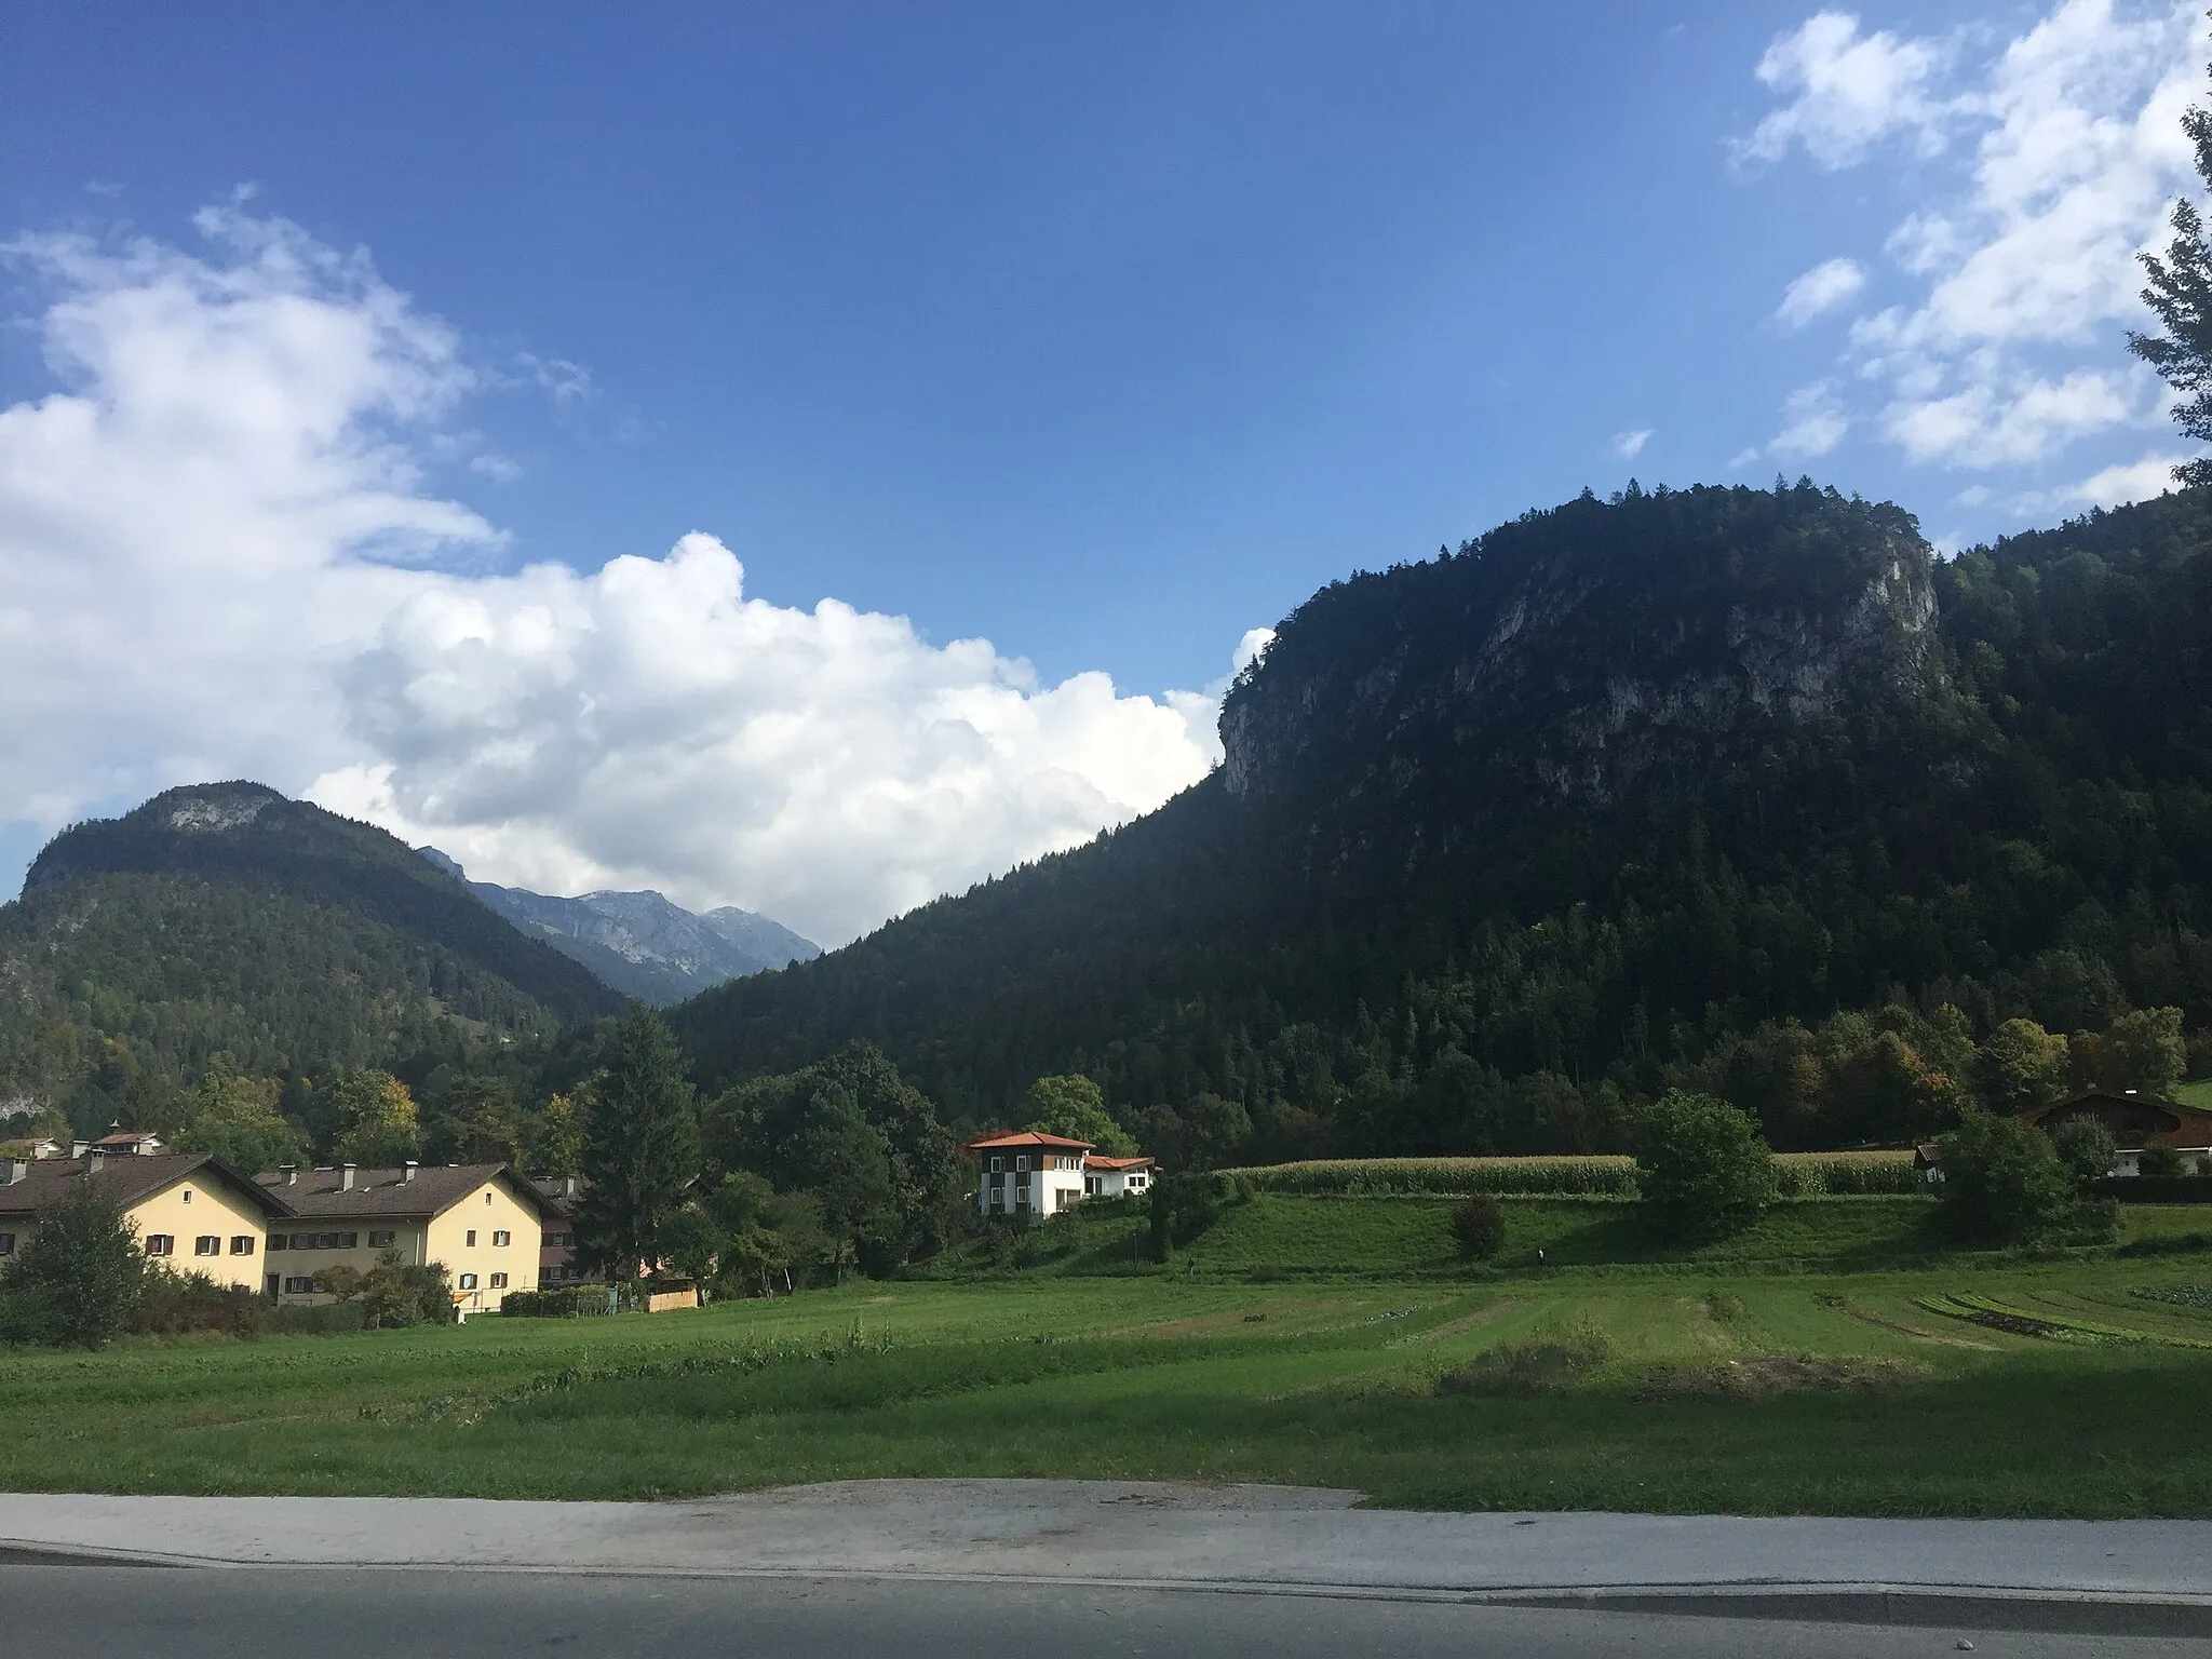
[(555, 898), (526, 887), (469, 880), (469, 872), (436, 847), (416, 852), (465, 883), (522, 933), (544, 940), (613, 989), (655, 1009), (684, 1002), (723, 980), (821, 956), (814, 940), (734, 905), (699, 916), (655, 891)]

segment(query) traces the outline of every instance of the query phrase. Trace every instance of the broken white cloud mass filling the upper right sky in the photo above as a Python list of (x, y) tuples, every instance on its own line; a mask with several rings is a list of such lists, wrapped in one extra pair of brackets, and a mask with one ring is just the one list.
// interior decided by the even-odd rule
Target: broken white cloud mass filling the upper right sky
[[(1885, 246), (1920, 299), (1851, 325), (1871, 429), (1911, 460), (1991, 469), (2161, 418), (2157, 378), (2124, 367), (2121, 327), (2143, 316), (2135, 254), (2194, 186), (2181, 113), (2205, 49), (2197, 0), (2062, 0), (1978, 55), (1951, 40), (1860, 38), (1838, 13), (1774, 42), (1759, 75), (1792, 100), (1750, 153), (1774, 159), (1803, 142), (1818, 166), (1849, 166), (1893, 131), (1944, 153), (1933, 197)], [(1827, 270), (1792, 285), (1785, 323), (1825, 310), (1814, 279)]]

